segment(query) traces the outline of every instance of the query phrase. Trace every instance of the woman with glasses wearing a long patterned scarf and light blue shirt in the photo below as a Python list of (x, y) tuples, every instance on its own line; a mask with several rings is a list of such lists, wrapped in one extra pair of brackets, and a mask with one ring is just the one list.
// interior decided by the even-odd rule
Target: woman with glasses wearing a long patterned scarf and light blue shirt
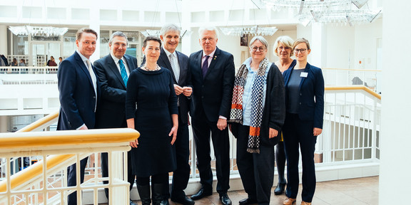
[(237, 165), (247, 199), (244, 204), (270, 204), (274, 179), (274, 146), (285, 119), (283, 75), (268, 62), (268, 42), (250, 41), (251, 57), (235, 75), (230, 130), (237, 137)]

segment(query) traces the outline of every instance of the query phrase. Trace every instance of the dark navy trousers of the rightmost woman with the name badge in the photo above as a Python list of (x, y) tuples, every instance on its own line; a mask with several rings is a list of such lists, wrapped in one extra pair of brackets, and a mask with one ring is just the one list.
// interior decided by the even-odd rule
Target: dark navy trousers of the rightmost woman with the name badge
[(313, 200), (315, 192), (314, 152), (317, 137), (313, 135), (313, 121), (300, 120), (298, 114), (287, 113), (283, 126), (285, 153), (287, 156), (287, 191), (289, 198), (298, 195), (298, 159), (299, 149), (303, 162), (303, 192), (301, 197), (305, 202)]

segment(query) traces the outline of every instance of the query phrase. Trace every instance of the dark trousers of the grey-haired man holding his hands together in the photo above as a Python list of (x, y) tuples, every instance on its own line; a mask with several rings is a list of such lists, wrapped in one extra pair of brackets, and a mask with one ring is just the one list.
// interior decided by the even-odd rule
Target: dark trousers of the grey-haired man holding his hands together
[[(188, 140), (188, 124), (183, 123), (178, 117), (178, 131), (176, 142), (176, 162), (177, 169), (173, 172), (173, 184), (171, 184), (171, 198), (179, 199), (186, 196), (184, 189), (187, 188), (188, 179), (190, 179), (190, 164), (188, 164), (188, 157), (190, 157), (190, 144)], [(168, 186), (165, 186), (166, 199), (170, 197)]]

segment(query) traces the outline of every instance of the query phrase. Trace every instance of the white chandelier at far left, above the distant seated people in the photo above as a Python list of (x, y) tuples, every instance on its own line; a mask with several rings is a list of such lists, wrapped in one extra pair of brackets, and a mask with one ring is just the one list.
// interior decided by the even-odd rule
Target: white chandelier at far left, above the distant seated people
[(67, 33), (68, 28), (56, 28), (52, 26), (10, 26), (9, 30), (14, 35), (19, 36), (45, 36), (45, 37), (53, 37), (53, 36), (63, 36), (64, 33)]

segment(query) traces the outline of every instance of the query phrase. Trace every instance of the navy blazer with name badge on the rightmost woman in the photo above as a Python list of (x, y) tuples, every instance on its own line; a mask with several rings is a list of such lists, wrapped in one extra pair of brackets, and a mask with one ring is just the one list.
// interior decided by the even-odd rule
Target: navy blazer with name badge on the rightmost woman
[[(285, 70), (285, 105), (288, 106), (288, 80), (293, 72), (294, 67)], [(313, 120), (314, 127), (323, 129), (324, 116), (324, 78), (323, 71), (307, 63), (304, 69), (308, 73), (307, 78), (303, 78), (300, 83), (300, 107), (298, 108), (298, 116), (300, 120)]]

